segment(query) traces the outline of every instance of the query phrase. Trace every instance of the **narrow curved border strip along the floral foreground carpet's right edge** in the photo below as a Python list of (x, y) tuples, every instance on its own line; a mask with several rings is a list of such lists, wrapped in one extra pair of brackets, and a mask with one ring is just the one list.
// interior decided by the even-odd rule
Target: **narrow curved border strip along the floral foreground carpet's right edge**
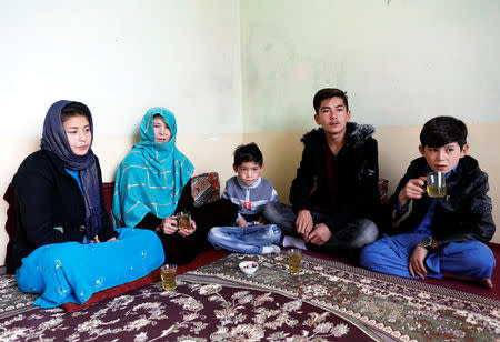
[[(221, 279), (219, 276), (193, 275), (193, 274), (189, 274), (189, 273), (191, 273), (191, 272), (180, 274), (180, 275), (177, 276), (177, 279), (179, 279), (182, 282), (190, 282), (190, 283), (218, 284), (218, 285), (223, 285), (223, 286), (233, 288), (233, 289), (242, 289), (242, 290), (249, 289), (249, 290), (263, 291), (262, 286), (254, 286), (254, 285), (251, 285), (251, 284), (243, 284), (243, 283), (239, 283), (239, 282), (233, 282), (233, 281), (230, 281), (230, 280), (227, 280), (227, 279)], [(278, 294), (284, 295), (284, 296), (287, 296), (289, 299), (298, 299), (297, 295), (282, 293), (281, 291), (276, 291), (276, 289), (267, 289), (267, 290), (269, 292), (272, 292), (272, 293), (278, 293)], [(328, 312), (330, 312), (330, 313), (332, 313), (332, 314), (334, 314), (334, 315), (337, 315), (337, 316), (348, 321), (352, 325), (356, 325), (358, 329), (363, 331), (373, 341), (389, 342), (389, 340), (382, 339), (374, 331), (372, 331), (372, 329), (376, 329), (377, 331), (379, 331), (379, 329), (377, 329), (374, 326), (364, 325), (364, 324), (360, 323), (357, 320), (352, 320), (352, 318), (350, 315), (342, 314), (342, 313), (333, 310), (332, 308), (329, 308), (328, 305), (321, 305), (320, 303), (317, 303), (314, 301), (308, 301), (308, 300), (303, 300), (303, 299), (300, 299), (300, 301), (306, 302), (306, 303), (308, 303), (310, 305), (318, 306), (318, 308), (321, 308), (323, 310), (327, 310)], [(381, 332), (382, 333), (387, 333), (383, 330)], [(384, 335), (384, 338), (389, 338), (389, 336)], [(397, 340), (393, 340), (392, 338), (389, 338), (389, 339), (390, 339), (390, 341), (397, 341)], [(412, 340), (410, 340), (410, 341), (412, 341)]]

